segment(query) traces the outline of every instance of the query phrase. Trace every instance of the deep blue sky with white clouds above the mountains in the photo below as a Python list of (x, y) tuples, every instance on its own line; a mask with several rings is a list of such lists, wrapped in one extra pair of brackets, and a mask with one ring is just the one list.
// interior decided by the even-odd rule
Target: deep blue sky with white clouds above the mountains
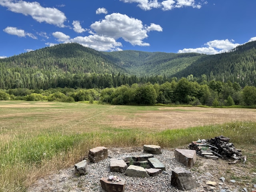
[(256, 40), (256, 0), (0, 0), (0, 58), (78, 42), (217, 54)]

